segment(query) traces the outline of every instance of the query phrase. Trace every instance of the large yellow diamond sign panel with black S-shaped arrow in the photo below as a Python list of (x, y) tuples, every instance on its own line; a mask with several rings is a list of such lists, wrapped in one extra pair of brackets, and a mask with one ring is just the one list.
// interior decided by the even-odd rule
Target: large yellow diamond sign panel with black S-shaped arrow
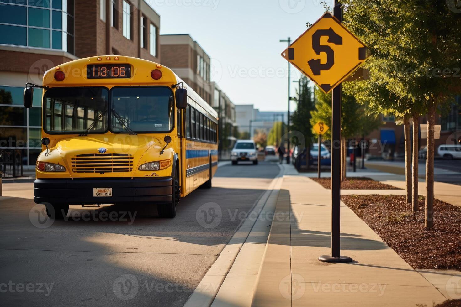
[(325, 13), (282, 56), (330, 93), (369, 56), (368, 47), (336, 17)]

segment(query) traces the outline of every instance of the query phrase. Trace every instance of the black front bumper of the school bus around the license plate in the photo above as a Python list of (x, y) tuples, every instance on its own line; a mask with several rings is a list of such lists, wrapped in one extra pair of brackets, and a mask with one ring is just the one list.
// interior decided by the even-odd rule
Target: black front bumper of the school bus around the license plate
[[(173, 179), (36, 179), (35, 203), (68, 203), (73, 205), (111, 203), (172, 203)], [(94, 197), (95, 188), (112, 188), (112, 197)]]

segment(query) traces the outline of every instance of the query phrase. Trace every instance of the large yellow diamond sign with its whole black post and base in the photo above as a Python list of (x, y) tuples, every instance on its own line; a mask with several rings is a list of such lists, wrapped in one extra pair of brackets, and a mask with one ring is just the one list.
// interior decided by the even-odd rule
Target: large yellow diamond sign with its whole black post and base
[[(326, 39), (327, 38), (327, 39)], [(326, 12), (282, 52), (288, 62), (331, 97), (331, 255), (325, 262), (350, 262), (340, 254), (341, 204), (341, 92), (342, 82), (370, 56), (368, 47), (343, 25), (341, 4), (335, 0), (333, 15)]]

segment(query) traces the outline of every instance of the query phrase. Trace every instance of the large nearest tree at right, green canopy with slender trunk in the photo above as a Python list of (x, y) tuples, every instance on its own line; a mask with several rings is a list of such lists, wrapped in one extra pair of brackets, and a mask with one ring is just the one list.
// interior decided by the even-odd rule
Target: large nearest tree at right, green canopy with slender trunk
[(437, 106), (452, 101), (461, 91), (453, 70), (461, 59), (460, 14), (450, 10), (446, 1), (342, 2), (346, 25), (376, 58), (366, 64), (370, 74), (381, 78), (392, 95), (413, 104), (415, 108), (408, 113), (414, 124), (421, 110), (428, 113), (425, 226), (432, 228), (435, 116)]

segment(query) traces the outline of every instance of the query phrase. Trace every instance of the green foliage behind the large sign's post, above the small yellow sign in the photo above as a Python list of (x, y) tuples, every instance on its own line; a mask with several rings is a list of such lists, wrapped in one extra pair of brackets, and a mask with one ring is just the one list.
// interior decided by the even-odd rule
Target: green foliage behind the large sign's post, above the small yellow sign
[[(311, 112), (311, 124), (324, 122), (331, 128), (331, 94), (325, 94), (315, 87), (315, 98), (316, 110)], [(366, 105), (358, 104), (354, 96), (343, 93), (341, 104), (341, 135), (344, 138), (352, 139), (357, 135), (371, 133), (381, 125), (379, 115), (368, 110)], [(331, 139), (331, 129), (323, 135), (323, 139)]]

